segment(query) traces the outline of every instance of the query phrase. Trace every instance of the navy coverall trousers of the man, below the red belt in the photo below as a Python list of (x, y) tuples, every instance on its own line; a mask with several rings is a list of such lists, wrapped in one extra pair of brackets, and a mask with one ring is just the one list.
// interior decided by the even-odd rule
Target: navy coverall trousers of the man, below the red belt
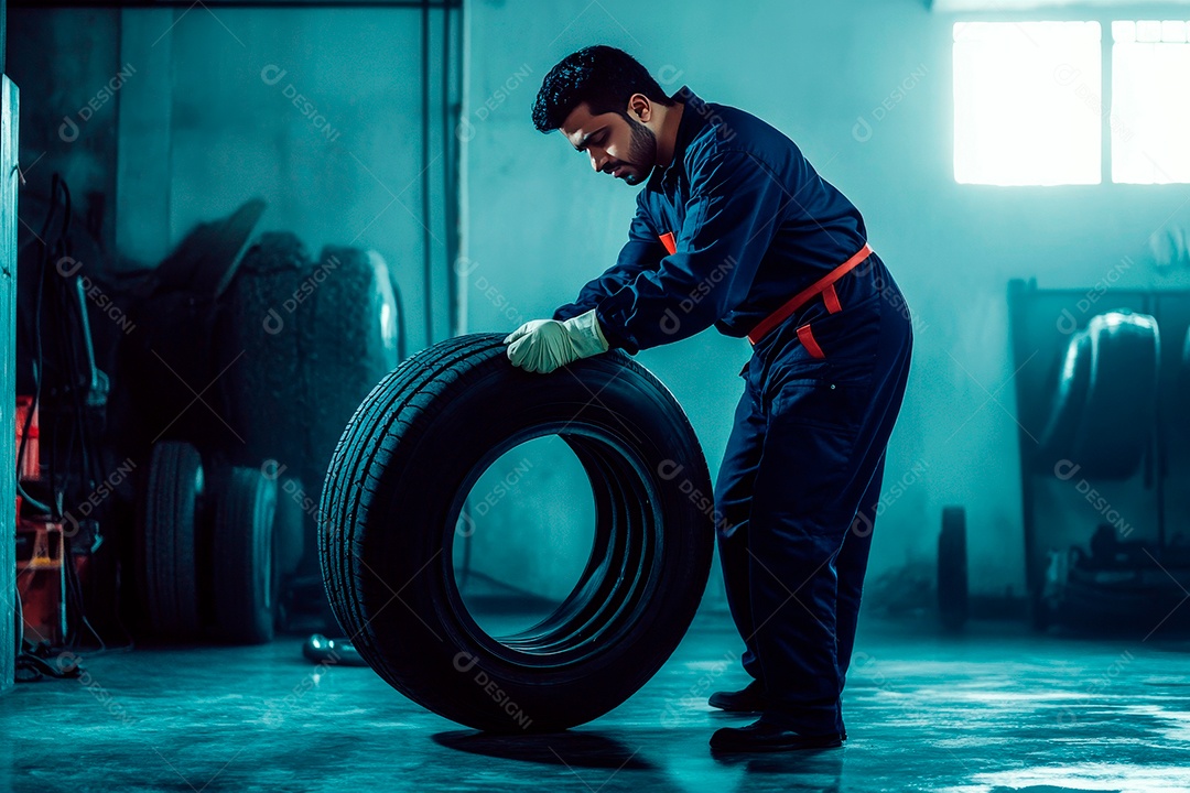
[(715, 487), (741, 661), (768, 692), (762, 718), (806, 735), (844, 729), (884, 451), (913, 347), (908, 311), (888, 294), (813, 325), (825, 359), (785, 332), (757, 346)]

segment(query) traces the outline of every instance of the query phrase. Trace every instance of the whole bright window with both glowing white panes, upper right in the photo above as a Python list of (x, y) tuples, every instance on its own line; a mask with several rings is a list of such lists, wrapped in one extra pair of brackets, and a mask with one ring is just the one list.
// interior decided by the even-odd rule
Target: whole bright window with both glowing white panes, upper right
[(1101, 30), (1098, 21), (954, 25), (957, 182), (1190, 182), (1190, 23), (1111, 21), (1109, 50)]

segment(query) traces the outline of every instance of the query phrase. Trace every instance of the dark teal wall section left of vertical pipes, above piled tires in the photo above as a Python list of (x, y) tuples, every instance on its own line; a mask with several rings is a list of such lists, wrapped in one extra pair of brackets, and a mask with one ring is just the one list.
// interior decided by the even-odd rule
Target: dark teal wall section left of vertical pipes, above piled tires
[[(440, 95), (436, 83), (424, 219), (415, 10), (21, 8), (10, 23), (10, 67), (31, 96), (25, 190), (48, 193), (60, 170), (83, 209), (89, 191), (107, 196), (115, 266), (154, 265), (195, 224), (261, 196), (269, 209), (257, 229), (293, 231), (312, 256), (326, 244), (380, 251), (416, 350), (425, 220), (440, 297), (433, 335), (446, 335)], [(432, 31), (437, 81), (440, 13)]]

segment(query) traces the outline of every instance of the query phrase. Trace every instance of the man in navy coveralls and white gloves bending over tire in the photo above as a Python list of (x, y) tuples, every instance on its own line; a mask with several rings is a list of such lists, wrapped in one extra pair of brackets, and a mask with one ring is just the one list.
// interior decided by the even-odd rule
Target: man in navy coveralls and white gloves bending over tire
[(551, 320), (506, 341), (550, 372), (714, 325), (752, 357), (715, 486), (727, 602), (752, 682), (710, 704), (759, 713), (715, 750), (839, 747), (884, 449), (913, 333), (864, 221), (794, 143), (683, 87), (666, 96), (627, 54), (558, 63), (533, 107), (591, 168), (644, 184), (615, 265)]

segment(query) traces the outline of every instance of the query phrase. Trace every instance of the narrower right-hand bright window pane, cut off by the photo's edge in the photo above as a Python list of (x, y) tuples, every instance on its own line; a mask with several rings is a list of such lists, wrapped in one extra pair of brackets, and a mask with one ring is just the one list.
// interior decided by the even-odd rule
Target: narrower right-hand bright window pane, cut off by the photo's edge
[(1190, 182), (1185, 21), (1111, 23), (1111, 181)]

